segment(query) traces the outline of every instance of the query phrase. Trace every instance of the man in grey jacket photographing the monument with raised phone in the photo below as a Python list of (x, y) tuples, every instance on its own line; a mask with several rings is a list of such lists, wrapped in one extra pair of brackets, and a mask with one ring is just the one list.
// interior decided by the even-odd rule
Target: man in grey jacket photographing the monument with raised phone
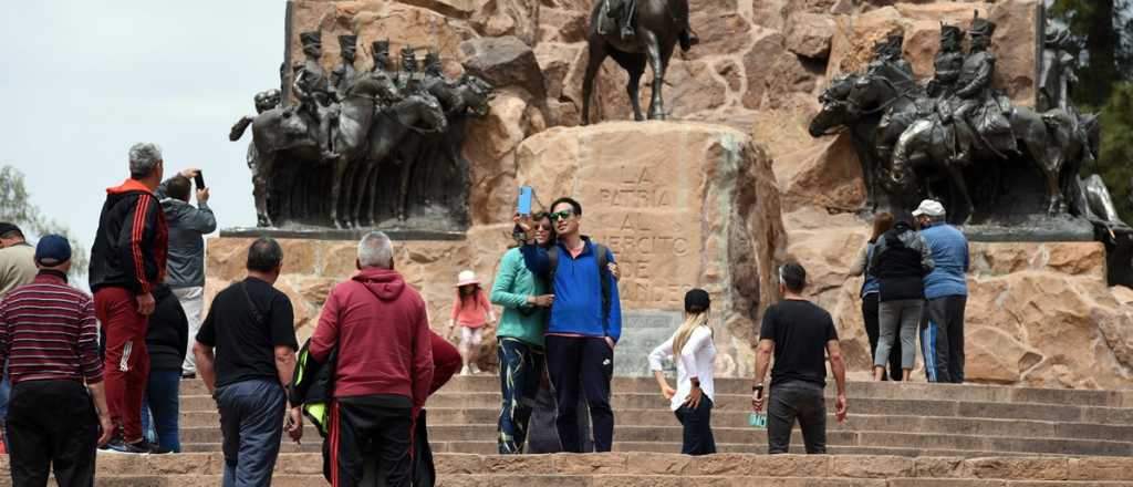
[[(169, 264), (165, 283), (181, 302), (189, 321), (189, 336), (201, 330), (201, 311), (205, 292), (204, 236), (216, 230), (216, 217), (208, 207), (208, 188), (197, 188), (197, 206), (189, 204), (191, 178), (201, 170), (186, 169), (157, 188), (161, 207), (169, 222)], [(189, 345), (191, 347), (191, 345)], [(193, 350), (186, 350), (181, 377), (196, 377), (197, 366)]]

